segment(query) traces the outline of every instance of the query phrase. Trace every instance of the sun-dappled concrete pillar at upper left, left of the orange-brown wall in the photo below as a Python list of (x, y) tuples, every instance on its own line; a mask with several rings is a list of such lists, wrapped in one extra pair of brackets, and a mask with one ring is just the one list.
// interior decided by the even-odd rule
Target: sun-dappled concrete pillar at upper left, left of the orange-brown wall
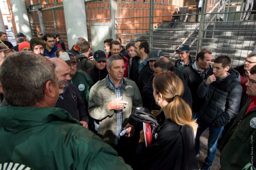
[(17, 32), (22, 32), (28, 39), (33, 38), (25, 0), (11, 0), (11, 4)]

